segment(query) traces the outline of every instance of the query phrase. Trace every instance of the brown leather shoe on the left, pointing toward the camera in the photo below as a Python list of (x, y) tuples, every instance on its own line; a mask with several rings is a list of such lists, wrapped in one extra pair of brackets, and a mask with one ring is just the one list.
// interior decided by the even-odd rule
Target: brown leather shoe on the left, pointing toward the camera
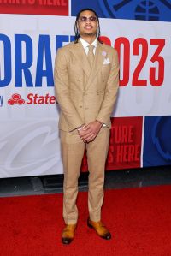
[(62, 231), (62, 243), (70, 244), (74, 240), (74, 233), (76, 229), (76, 224), (68, 224)]

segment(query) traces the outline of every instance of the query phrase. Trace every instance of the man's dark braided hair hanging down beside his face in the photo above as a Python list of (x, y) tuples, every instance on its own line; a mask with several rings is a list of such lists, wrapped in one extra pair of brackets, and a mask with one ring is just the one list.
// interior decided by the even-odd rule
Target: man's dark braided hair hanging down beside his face
[(79, 12), (79, 13), (77, 14), (77, 16), (76, 16), (76, 21), (75, 21), (75, 24), (74, 24), (74, 33), (75, 33), (75, 40), (74, 40), (74, 43), (75, 43), (75, 44), (78, 43), (78, 40), (79, 40), (79, 38), (80, 38), (80, 33), (79, 33), (79, 29), (78, 29), (78, 27), (77, 27), (77, 22), (78, 22), (78, 20), (79, 20), (79, 18), (80, 18), (80, 14), (81, 14), (82, 12), (84, 12), (85, 10), (89, 10), (89, 11), (93, 12), (94, 15), (97, 17), (98, 27), (97, 27), (96, 36), (97, 36), (97, 40), (98, 40), (100, 43), (102, 43), (102, 42), (100, 41), (100, 39), (99, 39), (99, 37), (100, 37), (100, 24), (99, 24), (98, 15), (97, 15), (97, 13), (95, 12), (95, 10), (90, 9), (90, 8), (81, 9), (80, 12)]

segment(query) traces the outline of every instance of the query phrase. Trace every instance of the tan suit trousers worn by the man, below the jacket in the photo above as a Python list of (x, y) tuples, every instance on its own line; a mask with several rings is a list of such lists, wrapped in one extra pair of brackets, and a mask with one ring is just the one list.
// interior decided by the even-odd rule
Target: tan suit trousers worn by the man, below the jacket
[(63, 182), (63, 218), (66, 224), (75, 224), (78, 220), (76, 199), (78, 178), (84, 152), (88, 161), (88, 210), (92, 221), (101, 219), (103, 205), (104, 168), (109, 149), (109, 128), (101, 128), (95, 140), (84, 143), (76, 131), (60, 130)]

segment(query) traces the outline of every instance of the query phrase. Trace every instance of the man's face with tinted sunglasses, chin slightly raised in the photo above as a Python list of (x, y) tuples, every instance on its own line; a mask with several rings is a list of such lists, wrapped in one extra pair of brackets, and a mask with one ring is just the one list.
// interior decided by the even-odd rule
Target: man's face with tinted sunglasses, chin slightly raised
[(80, 32), (80, 36), (94, 36), (97, 33), (97, 17), (90, 10), (85, 10), (80, 13), (77, 26)]

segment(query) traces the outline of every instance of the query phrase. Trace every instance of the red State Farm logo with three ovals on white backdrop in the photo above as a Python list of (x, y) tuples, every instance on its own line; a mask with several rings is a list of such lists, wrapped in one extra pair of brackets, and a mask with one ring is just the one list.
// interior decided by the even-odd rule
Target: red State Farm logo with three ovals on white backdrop
[(38, 93), (29, 93), (27, 100), (21, 98), (19, 93), (14, 93), (8, 100), (9, 105), (22, 105), (22, 104), (57, 104), (56, 97), (50, 96), (49, 93), (45, 95), (38, 95)]

